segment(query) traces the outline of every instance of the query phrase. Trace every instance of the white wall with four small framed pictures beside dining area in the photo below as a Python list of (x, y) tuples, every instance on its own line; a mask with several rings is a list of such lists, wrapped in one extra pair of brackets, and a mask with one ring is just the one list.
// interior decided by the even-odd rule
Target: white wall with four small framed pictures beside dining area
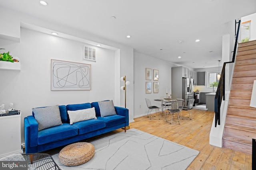
[[(154, 99), (165, 96), (166, 88), (168, 88), (168, 92), (171, 90), (172, 67), (175, 66), (177, 64), (134, 52), (134, 118), (148, 113), (145, 98), (150, 99), (152, 105), (161, 106), (161, 103)], [(146, 80), (146, 68), (151, 68), (152, 74), (153, 69), (159, 70), (159, 80)], [(152, 82), (152, 93), (150, 94), (146, 94), (146, 82)], [(153, 93), (153, 82), (159, 82), (159, 93)]]

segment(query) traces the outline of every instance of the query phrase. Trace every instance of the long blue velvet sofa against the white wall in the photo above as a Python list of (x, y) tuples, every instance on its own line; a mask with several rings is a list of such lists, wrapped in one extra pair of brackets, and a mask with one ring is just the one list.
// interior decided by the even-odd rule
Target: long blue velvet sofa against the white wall
[[(116, 107), (116, 115), (101, 117), (98, 102), (85, 104), (71, 104), (58, 106), (62, 124), (38, 131), (38, 122), (34, 113), (24, 118), (24, 138), (26, 153), (37, 153), (68, 145), (83, 139), (129, 125), (129, 111), (123, 107)], [(95, 108), (97, 119), (79, 121), (70, 125), (68, 110)]]

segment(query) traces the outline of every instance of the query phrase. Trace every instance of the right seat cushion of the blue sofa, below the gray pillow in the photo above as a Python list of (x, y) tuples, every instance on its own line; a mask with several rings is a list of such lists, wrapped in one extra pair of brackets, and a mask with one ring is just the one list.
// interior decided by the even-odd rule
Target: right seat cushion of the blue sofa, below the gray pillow
[(125, 123), (126, 117), (120, 116), (120, 115), (112, 115), (112, 116), (106, 116), (106, 117), (97, 117), (99, 120), (103, 120), (106, 122), (106, 127), (112, 127), (115, 125), (120, 125), (122, 123)]

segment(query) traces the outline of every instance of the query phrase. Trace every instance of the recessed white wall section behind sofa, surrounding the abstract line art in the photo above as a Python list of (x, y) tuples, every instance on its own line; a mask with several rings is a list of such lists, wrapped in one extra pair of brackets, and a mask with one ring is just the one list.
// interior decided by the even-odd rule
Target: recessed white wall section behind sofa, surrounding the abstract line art
[[(22, 111), (22, 129), (33, 107), (114, 100), (114, 51), (94, 47), (97, 61), (92, 62), (82, 59), (83, 43), (28, 29), (21, 29), (21, 39), (10, 45), (1, 41), (2, 48), (20, 58), (21, 71), (0, 71), (0, 104), (8, 109), (12, 102)], [(91, 64), (91, 90), (51, 91), (51, 59)]]

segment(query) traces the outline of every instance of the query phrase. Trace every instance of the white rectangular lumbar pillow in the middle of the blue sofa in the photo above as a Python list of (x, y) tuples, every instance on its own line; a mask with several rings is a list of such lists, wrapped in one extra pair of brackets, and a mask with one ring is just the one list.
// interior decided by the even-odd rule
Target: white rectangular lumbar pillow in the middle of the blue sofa
[(78, 121), (97, 119), (94, 107), (74, 111), (68, 110), (68, 116), (70, 119), (70, 125)]

